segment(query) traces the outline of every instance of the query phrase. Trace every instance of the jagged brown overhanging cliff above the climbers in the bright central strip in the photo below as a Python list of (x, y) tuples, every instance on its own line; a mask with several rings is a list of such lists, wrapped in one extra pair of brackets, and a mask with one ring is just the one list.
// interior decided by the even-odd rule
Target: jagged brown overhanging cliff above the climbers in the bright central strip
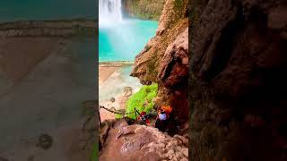
[(155, 103), (172, 106), (179, 124), (188, 120), (188, 60), (187, 0), (167, 0), (156, 36), (135, 57), (131, 75), (159, 84)]

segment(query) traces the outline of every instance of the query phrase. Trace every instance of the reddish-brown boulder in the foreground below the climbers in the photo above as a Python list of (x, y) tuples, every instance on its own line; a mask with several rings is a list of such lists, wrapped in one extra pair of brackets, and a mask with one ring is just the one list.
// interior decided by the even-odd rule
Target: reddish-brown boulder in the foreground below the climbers
[(125, 125), (124, 122), (119, 120), (110, 126), (108, 138), (100, 152), (100, 161), (113, 158), (118, 161), (188, 160), (188, 148), (182, 141), (184, 137), (172, 138), (155, 128)]

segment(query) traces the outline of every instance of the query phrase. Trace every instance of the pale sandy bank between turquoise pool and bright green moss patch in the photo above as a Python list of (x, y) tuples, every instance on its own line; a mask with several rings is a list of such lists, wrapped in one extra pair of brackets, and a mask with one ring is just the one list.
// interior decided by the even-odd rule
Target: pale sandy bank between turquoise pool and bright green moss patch
[[(113, 66), (113, 64), (119, 66)], [(126, 101), (131, 94), (135, 93), (142, 86), (134, 77), (129, 76), (132, 65), (129, 62), (113, 62), (99, 64), (99, 104), (109, 109), (125, 109)], [(126, 88), (131, 89), (130, 94), (126, 94)], [(110, 99), (114, 98), (112, 102)], [(109, 113), (105, 109), (100, 109), (101, 121), (114, 119), (115, 114)]]

